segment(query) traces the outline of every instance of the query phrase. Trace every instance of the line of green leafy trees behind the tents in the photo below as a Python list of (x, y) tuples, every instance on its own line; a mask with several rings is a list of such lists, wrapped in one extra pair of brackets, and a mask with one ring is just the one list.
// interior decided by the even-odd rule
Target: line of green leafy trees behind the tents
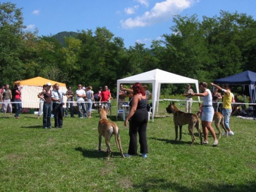
[[(245, 13), (220, 11), (219, 16), (199, 20), (173, 17), (174, 25), (150, 48), (124, 40), (106, 27), (81, 30), (65, 38), (24, 31), (22, 8), (0, 3), (0, 84), (12, 84), (41, 76), (70, 86), (91, 85), (96, 91), (105, 84), (116, 92), (118, 79), (155, 68), (199, 81), (256, 72), (256, 20)], [(163, 85), (162, 94), (182, 93), (181, 85)], [(182, 91), (181, 91), (182, 90)]]

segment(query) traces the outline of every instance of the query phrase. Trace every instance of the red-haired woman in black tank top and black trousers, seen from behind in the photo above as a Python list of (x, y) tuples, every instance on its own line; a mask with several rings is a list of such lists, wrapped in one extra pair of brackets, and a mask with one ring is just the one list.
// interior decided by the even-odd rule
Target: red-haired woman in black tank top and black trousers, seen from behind
[(128, 116), (125, 119), (125, 127), (129, 121), (129, 149), (128, 154), (125, 154), (126, 157), (136, 156), (137, 155), (137, 134), (139, 133), (139, 144), (140, 144), (140, 156), (147, 158), (147, 121), (148, 121), (148, 112), (147, 112), (147, 96), (143, 87), (140, 83), (135, 83), (133, 85), (133, 99), (129, 103), (131, 110)]

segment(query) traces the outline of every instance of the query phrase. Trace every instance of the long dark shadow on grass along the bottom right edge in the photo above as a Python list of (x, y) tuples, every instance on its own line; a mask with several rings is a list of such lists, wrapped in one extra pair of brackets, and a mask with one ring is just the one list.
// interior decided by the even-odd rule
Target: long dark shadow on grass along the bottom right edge
[(143, 192), (148, 191), (177, 191), (177, 192), (204, 192), (204, 191), (211, 191), (211, 192), (254, 192), (256, 191), (256, 184), (255, 182), (250, 182), (248, 184), (237, 184), (237, 185), (229, 185), (229, 184), (218, 184), (214, 185), (209, 182), (199, 183), (196, 185), (196, 188), (191, 186), (181, 186), (177, 182), (170, 182), (165, 179), (159, 178), (145, 178), (141, 184), (133, 185), (135, 189), (140, 189)]

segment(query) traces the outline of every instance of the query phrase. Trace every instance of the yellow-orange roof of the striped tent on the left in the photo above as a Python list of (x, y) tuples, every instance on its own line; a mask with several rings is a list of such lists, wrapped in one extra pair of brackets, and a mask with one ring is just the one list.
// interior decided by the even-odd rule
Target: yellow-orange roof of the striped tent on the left
[(29, 86), (43, 86), (43, 84), (46, 84), (47, 82), (50, 82), (52, 85), (54, 85), (55, 83), (58, 83), (60, 86), (65, 86), (65, 83), (60, 83), (60, 82), (56, 82), (56, 81), (52, 81), (52, 80), (48, 80), (42, 77), (35, 77), (35, 78), (31, 78), (31, 79), (26, 79), (26, 80), (21, 80), (21, 81), (15, 81), (14, 83), (19, 84), (19, 85), (29, 85)]

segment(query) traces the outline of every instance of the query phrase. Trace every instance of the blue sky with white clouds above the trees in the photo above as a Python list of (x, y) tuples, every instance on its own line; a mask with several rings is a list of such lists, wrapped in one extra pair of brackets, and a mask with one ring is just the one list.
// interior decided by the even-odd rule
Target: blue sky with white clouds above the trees
[(171, 34), (173, 15), (219, 16), (220, 10), (246, 13), (256, 19), (256, 0), (2, 0), (22, 8), (24, 25), (38, 36), (62, 31), (106, 27), (125, 46), (150, 47), (152, 40)]

